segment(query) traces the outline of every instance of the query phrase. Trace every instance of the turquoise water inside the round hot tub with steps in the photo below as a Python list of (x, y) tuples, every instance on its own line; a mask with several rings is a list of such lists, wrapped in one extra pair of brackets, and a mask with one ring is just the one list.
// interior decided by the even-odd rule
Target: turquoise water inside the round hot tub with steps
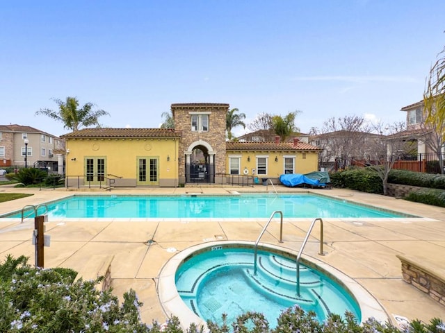
[(223, 313), (232, 323), (246, 311), (257, 311), (275, 327), (280, 313), (293, 305), (314, 311), (318, 321), (346, 310), (361, 320), (354, 298), (327, 275), (300, 264), (298, 296), (295, 259), (259, 251), (257, 274), (253, 260), (253, 249), (248, 248), (217, 246), (194, 255), (177, 270), (179, 296), (197, 316), (220, 324)]

